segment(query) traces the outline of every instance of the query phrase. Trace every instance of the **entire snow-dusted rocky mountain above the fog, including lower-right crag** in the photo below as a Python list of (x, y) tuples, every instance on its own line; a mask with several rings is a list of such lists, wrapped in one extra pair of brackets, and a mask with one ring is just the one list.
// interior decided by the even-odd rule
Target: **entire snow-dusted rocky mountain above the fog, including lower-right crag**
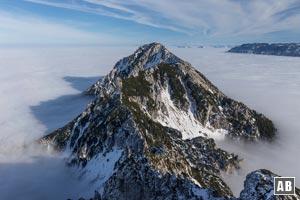
[[(221, 172), (238, 169), (241, 159), (214, 139), (275, 136), (271, 120), (159, 43), (121, 59), (85, 93), (95, 96), (86, 110), (40, 143), (66, 155), (96, 187), (94, 199), (236, 199)], [(273, 187), (253, 173), (241, 199)]]

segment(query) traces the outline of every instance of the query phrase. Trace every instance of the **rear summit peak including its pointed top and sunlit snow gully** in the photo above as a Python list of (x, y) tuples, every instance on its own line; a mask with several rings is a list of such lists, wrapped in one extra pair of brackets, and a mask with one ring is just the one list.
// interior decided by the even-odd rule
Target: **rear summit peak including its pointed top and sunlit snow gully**
[(131, 101), (140, 101), (143, 111), (181, 131), (184, 139), (226, 135), (256, 140), (274, 136), (269, 119), (226, 97), (189, 63), (159, 43), (144, 45), (121, 59), (86, 92), (111, 96), (120, 93), (122, 83), (125, 101), (128, 95)]

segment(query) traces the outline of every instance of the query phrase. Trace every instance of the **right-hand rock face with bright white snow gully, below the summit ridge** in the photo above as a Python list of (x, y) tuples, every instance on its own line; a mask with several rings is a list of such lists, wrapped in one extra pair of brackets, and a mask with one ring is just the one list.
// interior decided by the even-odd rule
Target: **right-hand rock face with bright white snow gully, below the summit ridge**
[(135, 103), (152, 119), (181, 131), (183, 139), (274, 136), (269, 119), (226, 97), (188, 63), (159, 64), (122, 83), (124, 103)]

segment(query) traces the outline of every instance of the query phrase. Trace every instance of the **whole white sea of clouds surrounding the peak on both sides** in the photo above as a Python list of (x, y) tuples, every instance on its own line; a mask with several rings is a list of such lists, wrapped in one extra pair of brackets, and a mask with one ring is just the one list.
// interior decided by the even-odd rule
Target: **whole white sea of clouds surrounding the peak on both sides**
[[(136, 47), (0, 48), (0, 199), (90, 197), (56, 155), (24, 148), (66, 124), (91, 100), (81, 92)], [(217, 141), (244, 159), (224, 178), (236, 195), (250, 171), (267, 168), (300, 179), (300, 58), (226, 53), (226, 49), (170, 46), (226, 95), (272, 119), (272, 143)], [(299, 185), (298, 185), (299, 186)]]

